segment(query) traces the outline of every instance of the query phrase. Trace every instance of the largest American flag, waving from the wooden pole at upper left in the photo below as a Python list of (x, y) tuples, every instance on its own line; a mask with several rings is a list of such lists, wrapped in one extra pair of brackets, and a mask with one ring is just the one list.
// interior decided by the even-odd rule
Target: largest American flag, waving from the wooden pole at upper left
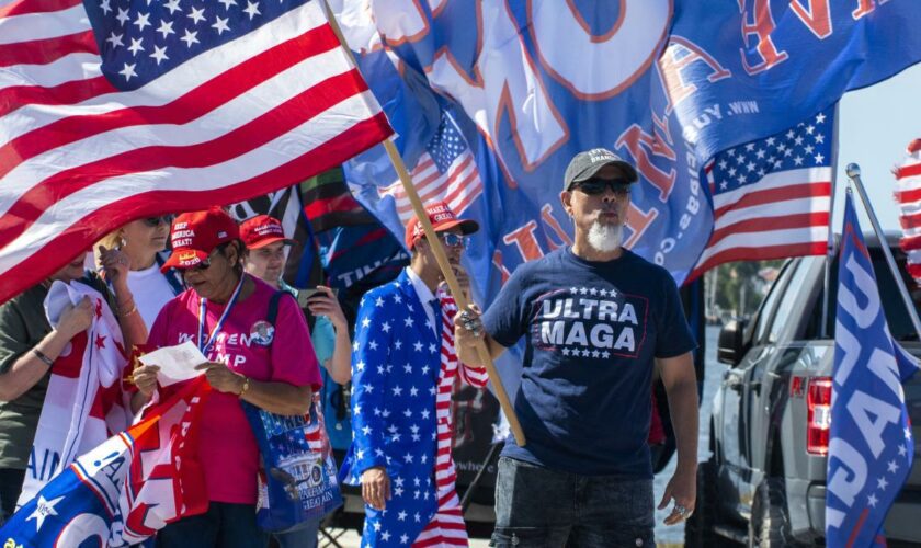
[(0, 8), (0, 301), (132, 219), (265, 194), (390, 134), (321, 4)]

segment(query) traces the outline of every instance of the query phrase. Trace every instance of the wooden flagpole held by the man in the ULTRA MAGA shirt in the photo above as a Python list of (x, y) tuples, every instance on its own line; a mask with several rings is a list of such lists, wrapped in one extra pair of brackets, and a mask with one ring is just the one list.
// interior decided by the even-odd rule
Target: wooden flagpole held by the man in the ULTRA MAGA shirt
[[(352, 60), (352, 64), (357, 66), (355, 61), (354, 55), (352, 55), (352, 50), (349, 48), (349, 45), (345, 43), (345, 38), (342, 36), (342, 30), (339, 27), (339, 22), (336, 20), (336, 15), (332, 14), (332, 10), (329, 9), (326, 0), (323, 0), (323, 7), (326, 9), (327, 19), (329, 20), (329, 24), (332, 27), (332, 31), (336, 33), (336, 36), (339, 38), (339, 43), (342, 46), (342, 49)], [(445, 282), (447, 282), (447, 287), (451, 290), (451, 295), (454, 297), (454, 301), (457, 304), (457, 308), (459, 310), (466, 310), (469, 302), (467, 302), (466, 297), (464, 296), (464, 292), (461, 290), (461, 284), (457, 283), (457, 277), (454, 275), (454, 270), (451, 267), (451, 263), (447, 260), (447, 254), (444, 252), (444, 247), (441, 243), (441, 238), (437, 237), (435, 233), (435, 229), (432, 227), (432, 222), (429, 220), (429, 216), (425, 214), (425, 206), (422, 205), (422, 199), (419, 197), (419, 192), (416, 190), (416, 185), (412, 184), (412, 178), (409, 175), (409, 172), (406, 169), (406, 164), (400, 157), (400, 153), (397, 151), (396, 145), (394, 145), (393, 139), (388, 138), (384, 141), (384, 148), (387, 150), (387, 156), (390, 158), (390, 163), (394, 164), (394, 169), (397, 172), (397, 175), (400, 178), (400, 182), (406, 190), (406, 194), (409, 197), (410, 204), (412, 204), (412, 210), (416, 213), (416, 217), (419, 219), (420, 225), (422, 226), (422, 230), (425, 232), (425, 238), (429, 240), (429, 244), (432, 248), (432, 252), (435, 255), (435, 261), (439, 263), (439, 269), (442, 271), (442, 275), (444, 275)], [(499, 377), (499, 372), (496, 369), (496, 364), (492, 362), (492, 356), (489, 354), (489, 350), (486, 347), (486, 343), (482, 340), (477, 341), (477, 353), (480, 358), (480, 363), (486, 367), (486, 372), (489, 375), (489, 380), (492, 383), (492, 388), (496, 391), (496, 398), (499, 400), (499, 404), (502, 407), (502, 411), (505, 413), (505, 418), (509, 420), (509, 426), (511, 427), (512, 435), (515, 436), (515, 443), (519, 447), (524, 447), (526, 441), (524, 437), (524, 431), (521, 430), (521, 423), (519, 423), (518, 415), (515, 415), (515, 410), (512, 407), (511, 401), (509, 400), (509, 395), (505, 392), (505, 387), (502, 385), (502, 379)]]

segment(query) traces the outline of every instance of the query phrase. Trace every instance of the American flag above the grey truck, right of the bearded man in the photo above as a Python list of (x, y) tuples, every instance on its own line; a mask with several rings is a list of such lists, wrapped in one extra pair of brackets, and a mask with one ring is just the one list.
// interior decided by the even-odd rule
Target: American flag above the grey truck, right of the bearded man
[(729, 261), (825, 254), (833, 109), (787, 132), (723, 151), (705, 172), (714, 230), (689, 279)]

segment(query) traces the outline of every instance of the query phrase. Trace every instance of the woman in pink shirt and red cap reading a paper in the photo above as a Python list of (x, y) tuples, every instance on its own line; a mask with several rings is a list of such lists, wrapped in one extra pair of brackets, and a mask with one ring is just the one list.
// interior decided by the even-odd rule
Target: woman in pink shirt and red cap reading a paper
[[(266, 321), (275, 289), (245, 274), (236, 221), (219, 208), (175, 218), (172, 254), (163, 269), (179, 269), (190, 289), (169, 301), (150, 330), (148, 345), (197, 344), (214, 392), (202, 414), (198, 456), (211, 501), (205, 514), (167, 525), (161, 547), (264, 547), (255, 523), (259, 448), (240, 400), (276, 414), (303, 415), (320, 373), (304, 315), (293, 297)], [(144, 397), (157, 388), (156, 366), (135, 370)], [(162, 397), (170, 389), (160, 387)]]

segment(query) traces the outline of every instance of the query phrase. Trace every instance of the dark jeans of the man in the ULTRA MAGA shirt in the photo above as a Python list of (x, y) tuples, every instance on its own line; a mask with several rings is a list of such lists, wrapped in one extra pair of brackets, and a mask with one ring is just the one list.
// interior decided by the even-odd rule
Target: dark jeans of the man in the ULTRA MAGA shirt
[(655, 547), (652, 526), (651, 479), (579, 476), (499, 459), (490, 546)]

